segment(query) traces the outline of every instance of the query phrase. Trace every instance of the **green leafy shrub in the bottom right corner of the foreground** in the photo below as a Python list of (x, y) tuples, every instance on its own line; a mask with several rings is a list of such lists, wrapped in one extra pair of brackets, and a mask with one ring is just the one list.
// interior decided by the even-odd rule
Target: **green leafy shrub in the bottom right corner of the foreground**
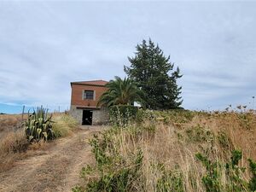
[[(256, 163), (249, 160), (250, 171), (253, 177), (249, 182), (245, 180), (241, 173), (245, 172), (246, 168), (239, 166), (242, 154), (239, 150), (232, 151), (230, 162), (224, 163), (220, 161), (212, 162), (202, 154), (195, 154), (197, 160), (200, 160), (203, 166), (206, 167), (207, 172), (202, 177), (207, 192), (240, 192), (240, 191), (254, 191), (256, 186)], [(221, 182), (225, 177), (226, 182)]]

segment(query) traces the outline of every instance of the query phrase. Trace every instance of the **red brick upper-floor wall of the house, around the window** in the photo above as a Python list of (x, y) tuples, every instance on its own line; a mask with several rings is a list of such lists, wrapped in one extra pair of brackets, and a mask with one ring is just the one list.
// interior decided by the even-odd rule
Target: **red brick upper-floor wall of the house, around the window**
[[(84, 100), (84, 90), (95, 90), (94, 100)], [(71, 105), (83, 106), (83, 107), (96, 107), (100, 96), (107, 90), (104, 86), (86, 85), (86, 84), (72, 84), (71, 92)]]

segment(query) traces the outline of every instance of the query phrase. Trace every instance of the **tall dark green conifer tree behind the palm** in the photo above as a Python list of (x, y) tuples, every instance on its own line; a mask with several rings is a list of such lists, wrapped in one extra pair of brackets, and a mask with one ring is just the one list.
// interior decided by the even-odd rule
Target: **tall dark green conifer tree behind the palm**
[(143, 40), (137, 44), (134, 57), (128, 57), (131, 67), (125, 66), (128, 77), (137, 82), (137, 86), (145, 93), (144, 105), (150, 109), (180, 108), (181, 86), (177, 79), (181, 78), (179, 68), (173, 69), (170, 55), (166, 57), (158, 45), (149, 38), (148, 44)]

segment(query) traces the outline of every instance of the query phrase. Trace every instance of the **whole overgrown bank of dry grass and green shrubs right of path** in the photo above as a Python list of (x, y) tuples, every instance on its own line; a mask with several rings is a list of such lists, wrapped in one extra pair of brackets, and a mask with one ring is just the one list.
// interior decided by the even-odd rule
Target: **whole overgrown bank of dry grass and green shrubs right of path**
[(96, 161), (73, 191), (253, 192), (256, 117), (248, 129), (239, 115), (138, 110), (90, 140)]

